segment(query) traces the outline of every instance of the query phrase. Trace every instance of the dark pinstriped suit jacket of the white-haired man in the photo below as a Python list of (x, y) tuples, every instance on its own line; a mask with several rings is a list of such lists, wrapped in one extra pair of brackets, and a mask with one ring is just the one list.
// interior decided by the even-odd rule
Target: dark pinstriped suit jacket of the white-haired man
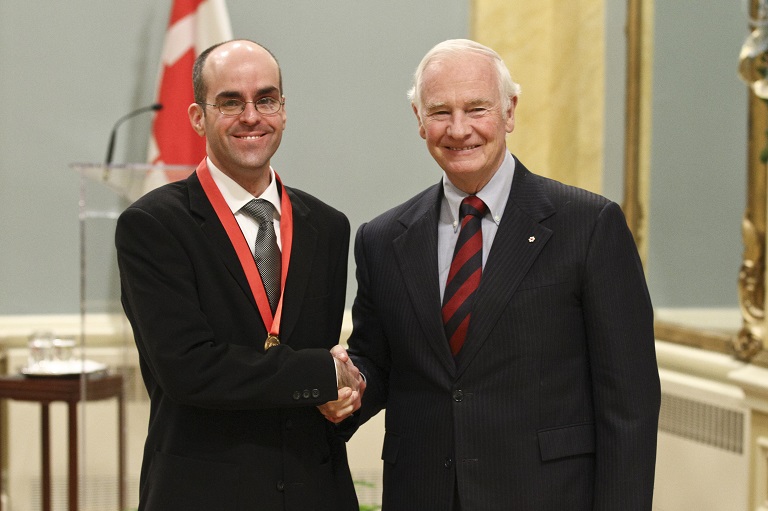
[(651, 303), (619, 206), (530, 173), (510, 198), (456, 361), (437, 271), (442, 186), (363, 225), (349, 340), (386, 407), (384, 511), (651, 509)]

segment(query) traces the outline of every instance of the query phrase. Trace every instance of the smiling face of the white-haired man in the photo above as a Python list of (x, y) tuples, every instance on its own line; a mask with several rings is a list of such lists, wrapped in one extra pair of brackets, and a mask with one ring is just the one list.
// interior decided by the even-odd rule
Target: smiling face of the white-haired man
[(429, 63), (420, 97), (413, 110), (430, 154), (457, 188), (480, 191), (504, 160), (517, 97), (505, 110), (492, 61), (473, 52)]

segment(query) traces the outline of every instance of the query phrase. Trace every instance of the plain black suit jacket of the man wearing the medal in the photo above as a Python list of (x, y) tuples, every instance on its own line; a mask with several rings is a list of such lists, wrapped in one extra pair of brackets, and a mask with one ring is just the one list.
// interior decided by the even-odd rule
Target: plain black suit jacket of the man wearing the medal
[(140, 509), (357, 510), (343, 440), (316, 406), (336, 399), (349, 222), (288, 189), (294, 238), (282, 345), (193, 174), (119, 218), (122, 301), (151, 399)]

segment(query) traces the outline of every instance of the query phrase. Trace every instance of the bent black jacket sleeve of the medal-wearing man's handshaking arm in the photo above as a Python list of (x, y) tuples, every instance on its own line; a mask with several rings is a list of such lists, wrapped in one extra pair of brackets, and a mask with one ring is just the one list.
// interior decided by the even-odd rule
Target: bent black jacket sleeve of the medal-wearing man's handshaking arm
[(178, 403), (215, 409), (336, 399), (328, 350), (281, 345), (265, 353), (258, 314), (197, 224), (151, 211), (128, 208), (115, 234), (122, 302), (150, 394), (156, 386)]

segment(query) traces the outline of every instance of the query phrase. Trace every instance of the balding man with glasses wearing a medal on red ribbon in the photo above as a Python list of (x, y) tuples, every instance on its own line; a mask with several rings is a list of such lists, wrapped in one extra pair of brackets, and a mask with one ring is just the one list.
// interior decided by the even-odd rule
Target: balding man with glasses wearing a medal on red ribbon
[(151, 399), (139, 509), (357, 511), (332, 423), (365, 385), (333, 356), (349, 222), (270, 166), (286, 113), (267, 49), (209, 48), (193, 86), (189, 119), (207, 157), (116, 230)]

